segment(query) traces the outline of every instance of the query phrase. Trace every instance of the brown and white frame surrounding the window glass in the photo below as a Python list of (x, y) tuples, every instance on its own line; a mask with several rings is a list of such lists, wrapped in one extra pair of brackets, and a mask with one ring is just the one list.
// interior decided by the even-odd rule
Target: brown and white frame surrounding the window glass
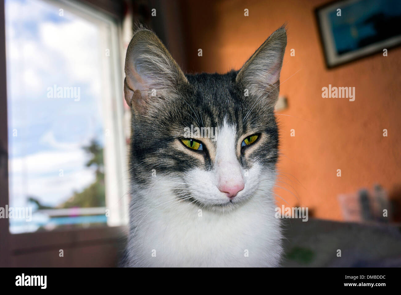
[[(114, 119), (119, 118), (113, 122), (113, 128), (116, 132), (117, 140), (113, 148), (109, 148), (109, 153), (119, 153), (119, 159), (126, 159), (124, 154), (126, 153), (125, 138), (124, 138), (124, 99), (122, 93), (122, 79), (123, 79), (123, 60), (122, 55), (124, 49), (122, 45), (122, 17), (118, 12), (105, 14), (102, 11), (96, 11), (99, 8), (93, 1), (89, 1), (91, 5), (78, 3), (72, 0), (42, 0), (52, 4), (63, 4), (65, 6), (73, 7), (73, 10), (80, 10), (83, 13), (92, 14), (97, 18), (103, 18), (105, 22), (109, 22), (111, 28), (111, 44), (113, 47), (111, 50), (115, 54), (110, 55), (113, 57), (111, 69), (115, 79), (113, 81), (113, 102), (116, 103), (115, 110), (117, 114), (113, 114)], [(101, 2), (104, 4), (104, 1)], [(88, 3), (87, 3), (88, 4)], [(91, 7), (92, 6), (92, 7)], [(121, 9), (122, 10), (122, 9)], [(79, 14), (78, 14), (79, 15)], [(0, 83), (5, 87), (0, 87), (0, 124), (1, 126), (8, 126), (8, 110), (7, 110), (7, 84), (6, 84), (6, 36), (5, 36), (5, 3), (0, 5), (0, 39), (2, 45), (0, 46)], [(117, 161), (118, 162), (118, 161)], [(126, 163), (116, 163), (117, 171), (119, 171), (118, 178), (128, 179), (126, 176)], [(0, 129), (0, 207), (5, 208), (5, 205), (9, 203), (9, 182), (8, 182), (8, 128)], [(119, 191), (127, 191), (128, 187), (124, 186), (122, 181)], [(107, 200), (106, 200), (107, 201)], [(107, 206), (107, 204), (106, 204)], [(124, 209), (125, 207), (125, 209)], [(125, 214), (125, 218), (128, 219), (128, 195), (125, 194), (124, 201), (118, 209), (120, 214)], [(126, 210), (126, 212), (121, 212)], [(109, 222), (108, 222), (109, 223)], [(113, 263), (117, 265), (117, 261), (105, 261), (104, 263), (99, 262), (99, 259), (103, 259), (106, 255), (112, 257), (118, 257), (117, 250), (121, 250), (121, 245), (124, 244), (125, 237), (128, 233), (128, 226), (113, 226), (108, 224), (107, 226), (81, 228), (72, 230), (53, 230), (49, 232), (31, 232), (21, 234), (11, 234), (9, 231), (8, 219), (0, 219), (0, 267), (35, 267), (35, 266), (57, 266), (59, 259), (59, 249), (71, 249), (75, 250), (75, 259), (71, 262), (62, 263), (63, 266), (79, 267), (79, 266), (113, 266)], [(85, 257), (87, 252), (80, 251), (79, 248), (92, 247), (91, 249), (91, 261), (95, 262), (91, 265), (82, 265), (81, 261), (88, 261)], [(110, 247), (114, 245), (116, 247)], [(95, 250), (93, 250), (95, 249)], [(45, 253), (41, 255), (40, 265), (35, 265), (34, 257), (38, 252)], [(57, 254), (57, 255), (55, 255)], [(18, 256), (23, 256), (24, 260), (18, 259)], [(65, 254), (67, 256), (67, 254)], [(78, 257), (77, 257), (78, 256)], [(79, 259), (81, 256), (82, 260)], [(29, 257), (32, 257), (30, 259)], [(85, 259), (86, 258), (86, 259)], [(57, 262), (56, 262), (57, 261)], [(91, 262), (88, 262), (91, 263)]]

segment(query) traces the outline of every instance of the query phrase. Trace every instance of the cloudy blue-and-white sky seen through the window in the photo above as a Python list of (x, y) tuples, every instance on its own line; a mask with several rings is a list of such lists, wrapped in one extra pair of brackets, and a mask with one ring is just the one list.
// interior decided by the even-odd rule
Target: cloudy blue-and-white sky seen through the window
[[(93, 182), (82, 146), (103, 142), (100, 29), (51, 2), (6, 0), (10, 206), (57, 205)], [(80, 87), (80, 100), (47, 89)], [(17, 136), (13, 136), (13, 134)], [(63, 169), (64, 176), (59, 177)]]

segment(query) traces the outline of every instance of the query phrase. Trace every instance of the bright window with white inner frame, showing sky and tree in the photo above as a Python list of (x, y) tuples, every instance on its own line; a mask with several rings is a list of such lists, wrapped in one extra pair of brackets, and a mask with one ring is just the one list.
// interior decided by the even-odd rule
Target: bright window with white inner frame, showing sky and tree
[(6, 0), (5, 23), (10, 232), (126, 224), (116, 22), (75, 2)]

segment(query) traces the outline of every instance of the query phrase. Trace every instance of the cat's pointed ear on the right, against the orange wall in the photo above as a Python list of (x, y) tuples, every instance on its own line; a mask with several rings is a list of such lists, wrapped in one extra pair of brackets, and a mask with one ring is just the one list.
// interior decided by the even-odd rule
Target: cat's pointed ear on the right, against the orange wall
[(279, 28), (253, 53), (239, 70), (236, 82), (257, 97), (266, 97), (267, 103), (275, 105), (279, 92), (280, 71), (287, 34), (284, 27)]

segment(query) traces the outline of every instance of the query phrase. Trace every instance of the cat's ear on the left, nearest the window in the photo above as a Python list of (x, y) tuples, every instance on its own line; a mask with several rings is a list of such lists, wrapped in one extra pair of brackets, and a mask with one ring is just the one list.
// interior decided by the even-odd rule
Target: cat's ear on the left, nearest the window
[(141, 29), (128, 45), (125, 61), (124, 96), (128, 106), (147, 112), (163, 100), (178, 96), (181, 83), (188, 83), (162, 41)]

